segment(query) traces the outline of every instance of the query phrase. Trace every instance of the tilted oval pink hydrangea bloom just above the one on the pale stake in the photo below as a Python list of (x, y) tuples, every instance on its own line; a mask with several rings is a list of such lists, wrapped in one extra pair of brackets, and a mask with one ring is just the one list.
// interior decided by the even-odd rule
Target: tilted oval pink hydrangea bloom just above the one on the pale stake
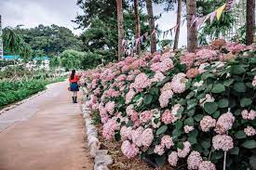
[(233, 116), (232, 112), (228, 111), (219, 117), (214, 130), (218, 134), (224, 134), (232, 128), (234, 122), (235, 117)]

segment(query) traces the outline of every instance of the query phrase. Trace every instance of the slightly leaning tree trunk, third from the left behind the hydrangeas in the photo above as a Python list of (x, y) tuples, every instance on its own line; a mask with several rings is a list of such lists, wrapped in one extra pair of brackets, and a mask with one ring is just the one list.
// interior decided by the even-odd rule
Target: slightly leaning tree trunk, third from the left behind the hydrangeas
[(155, 53), (156, 51), (156, 37), (155, 33), (155, 19), (154, 19), (154, 14), (153, 14), (153, 7), (152, 7), (152, 0), (146, 0), (146, 7), (147, 7), (147, 12), (149, 15), (149, 31), (151, 35), (151, 53)]

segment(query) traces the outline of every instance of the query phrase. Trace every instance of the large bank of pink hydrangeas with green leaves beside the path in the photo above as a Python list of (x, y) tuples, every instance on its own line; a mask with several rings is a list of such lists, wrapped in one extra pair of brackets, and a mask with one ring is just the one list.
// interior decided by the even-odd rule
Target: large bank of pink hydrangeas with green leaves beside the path
[[(162, 166), (247, 169), (256, 149), (255, 46), (215, 41), (85, 72), (105, 139)], [(238, 164), (237, 164), (238, 163)]]

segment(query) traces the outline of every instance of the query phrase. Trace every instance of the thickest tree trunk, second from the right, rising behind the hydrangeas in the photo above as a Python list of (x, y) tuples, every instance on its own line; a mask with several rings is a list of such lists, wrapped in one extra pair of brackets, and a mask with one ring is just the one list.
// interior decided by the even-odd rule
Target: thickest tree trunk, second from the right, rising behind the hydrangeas
[(194, 52), (197, 47), (197, 30), (196, 24), (192, 23), (193, 16), (196, 16), (196, 1), (187, 0), (187, 50)]

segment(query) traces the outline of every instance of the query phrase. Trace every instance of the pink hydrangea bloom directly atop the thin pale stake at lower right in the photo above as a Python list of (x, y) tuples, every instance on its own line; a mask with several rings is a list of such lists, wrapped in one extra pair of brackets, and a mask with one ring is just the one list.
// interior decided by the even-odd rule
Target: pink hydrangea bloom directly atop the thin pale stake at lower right
[(212, 146), (215, 150), (231, 150), (234, 147), (233, 138), (227, 135), (217, 135), (212, 137)]

